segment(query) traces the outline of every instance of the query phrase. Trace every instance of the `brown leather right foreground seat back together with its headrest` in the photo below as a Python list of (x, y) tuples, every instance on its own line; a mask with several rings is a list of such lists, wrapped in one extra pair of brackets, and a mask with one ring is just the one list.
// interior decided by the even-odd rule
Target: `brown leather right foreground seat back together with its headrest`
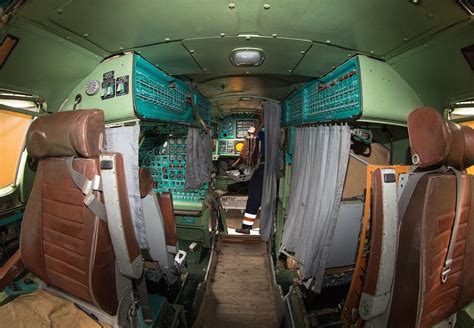
[[(428, 108), (410, 114), (408, 127), (420, 166), (448, 164), (462, 170), (471, 165), (473, 131), (448, 124)], [(429, 143), (437, 145), (422, 147)], [(446, 281), (442, 271), (455, 236), (458, 182), (452, 172), (434, 172), (415, 187), (401, 218), (389, 327), (431, 327), (474, 299), (474, 177), (463, 173), (461, 180), (460, 219)]]

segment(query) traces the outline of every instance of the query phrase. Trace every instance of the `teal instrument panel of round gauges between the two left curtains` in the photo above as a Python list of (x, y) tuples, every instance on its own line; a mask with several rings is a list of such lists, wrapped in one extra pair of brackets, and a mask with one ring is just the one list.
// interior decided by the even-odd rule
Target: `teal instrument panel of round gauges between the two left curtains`
[(171, 192), (176, 202), (202, 202), (208, 185), (185, 190), (186, 135), (148, 134), (140, 147), (140, 166), (150, 169), (153, 191)]

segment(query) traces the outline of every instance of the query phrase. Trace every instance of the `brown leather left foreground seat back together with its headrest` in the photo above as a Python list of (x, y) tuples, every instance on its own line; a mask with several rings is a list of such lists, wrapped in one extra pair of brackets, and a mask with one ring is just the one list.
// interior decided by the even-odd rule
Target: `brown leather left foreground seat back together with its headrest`
[[(59, 112), (32, 123), (27, 150), (39, 163), (22, 222), (20, 252), (25, 267), (47, 284), (115, 314), (115, 255), (107, 222), (85, 205), (67, 167), (67, 159), (75, 156), (76, 172), (91, 181), (100, 176), (104, 136), (100, 110)], [(126, 193), (126, 187), (119, 190)], [(94, 195), (103, 202), (101, 192)], [(131, 241), (128, 252), (136, 257), (131, 216), (125, 214), (123, 220)]]

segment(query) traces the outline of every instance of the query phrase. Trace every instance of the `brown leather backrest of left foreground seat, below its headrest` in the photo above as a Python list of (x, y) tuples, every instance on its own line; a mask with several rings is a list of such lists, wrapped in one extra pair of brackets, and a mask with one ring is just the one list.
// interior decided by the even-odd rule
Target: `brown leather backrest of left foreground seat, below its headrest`
[[(73, 167), (88, 179), (100, 173), (98, 159), (75, 159)], [(21, 258), (47, 284), (115, 314), (115, 256), (107, 224), (83, 199), (65, 158), (41, 160), (22, 222)]]

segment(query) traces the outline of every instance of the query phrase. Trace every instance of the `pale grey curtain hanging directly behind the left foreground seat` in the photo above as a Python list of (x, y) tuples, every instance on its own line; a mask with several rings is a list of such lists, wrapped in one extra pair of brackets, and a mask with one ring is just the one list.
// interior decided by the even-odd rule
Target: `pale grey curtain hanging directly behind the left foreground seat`
[(145, 230), (145, 219), (143, 218), (142, 201), (138, 181), (138, 138), (140, 127), (119, 126), (106, 129), (107, 152), (121, 153), (127, 181), (128, 201), (132, 214), (135, 234), (140, 248), (148, 248), (148, 237)]

